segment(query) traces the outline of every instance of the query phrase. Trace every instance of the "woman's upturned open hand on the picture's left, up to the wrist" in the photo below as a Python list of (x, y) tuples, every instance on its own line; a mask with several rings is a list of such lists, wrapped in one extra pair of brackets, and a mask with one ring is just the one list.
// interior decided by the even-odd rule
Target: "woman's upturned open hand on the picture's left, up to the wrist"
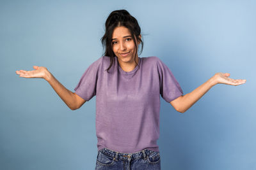
[(21, 69), (16, 71), (16, 74), (24, 78), (44, 78), (46, 80), (47, 72), (49, 72), (46, 67), (33, 66), (33, 68), (35, 70), (25, 71)]

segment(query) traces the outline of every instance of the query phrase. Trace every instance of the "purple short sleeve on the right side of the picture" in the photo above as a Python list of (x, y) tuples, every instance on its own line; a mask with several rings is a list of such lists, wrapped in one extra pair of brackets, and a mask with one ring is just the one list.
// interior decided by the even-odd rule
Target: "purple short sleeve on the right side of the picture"
[(170, 103), (177, 97), (182, 96), (183, 92), (172, 71), (160, 59), (157, 60), (157, 69), (160, 81), (160, 94), (163, 99)]

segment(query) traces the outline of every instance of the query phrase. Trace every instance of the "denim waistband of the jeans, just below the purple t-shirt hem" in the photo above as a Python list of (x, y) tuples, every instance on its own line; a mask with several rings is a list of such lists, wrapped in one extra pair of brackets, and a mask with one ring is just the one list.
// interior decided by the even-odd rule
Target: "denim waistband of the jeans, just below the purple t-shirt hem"
[(141, 150), (139, 152), (134, 153), (122, 153), (122, 152), (116, 152), (114, 150), (111, 150), (109, 148), (102, 148), (99, 150), (99, 152), (104, 153), (105, 155), (108, 155), (109, 157), (113, 157), (114, 160), (125, 160), (125, 159), (147, 159), (148, 155), (150, 155), (152, 152), (155, 152), (153, 150)]

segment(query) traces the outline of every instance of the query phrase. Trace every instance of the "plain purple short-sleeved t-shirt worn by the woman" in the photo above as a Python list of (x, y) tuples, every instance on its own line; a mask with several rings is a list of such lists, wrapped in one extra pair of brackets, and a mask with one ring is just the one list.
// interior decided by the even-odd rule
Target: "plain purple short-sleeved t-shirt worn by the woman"
[(158, 57), (139, 57), (138, 66), (124, 71), (115, 57), (102, 56), (84, 72), (74, 89), (89, 101), (96, 96), (97, 148), (133, 153), (159, 151), (160, 95), (170, 103), (183, 94), (172, 72)]

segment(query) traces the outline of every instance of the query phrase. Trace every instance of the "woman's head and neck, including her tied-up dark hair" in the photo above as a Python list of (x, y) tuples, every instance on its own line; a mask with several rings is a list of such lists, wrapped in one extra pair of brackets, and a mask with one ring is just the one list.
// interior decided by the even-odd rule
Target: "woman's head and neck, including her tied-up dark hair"
[[(138, 66), (138, 45), (141, 45), (141, 52), (143, 50), (141, 29), (138, 21), (136, 18), (132, 17), (128, 11), (116, 10), (109, 14), (105, 27), (105, 34), (102, 36), (101, 42), (106, 48), (105, 55), (109, 56), (111, 60), (107, 70), (109, 71), (115, 57), (118, 57), (118, 63), (120, 61), (119, 64), (122, 69), (124, 69), (124, 71), (131, 71), (132, 68), (135, 67), (135, 65), (132, 64), (134, 60), (135, 64)], [(126, 57), (125, 55), (127, 54), (125, 53), (128, 52), (130, 59), (123, 60), (122, 57)], [(129, 62), (127, 62), (127, 60), (129, 60)]]

